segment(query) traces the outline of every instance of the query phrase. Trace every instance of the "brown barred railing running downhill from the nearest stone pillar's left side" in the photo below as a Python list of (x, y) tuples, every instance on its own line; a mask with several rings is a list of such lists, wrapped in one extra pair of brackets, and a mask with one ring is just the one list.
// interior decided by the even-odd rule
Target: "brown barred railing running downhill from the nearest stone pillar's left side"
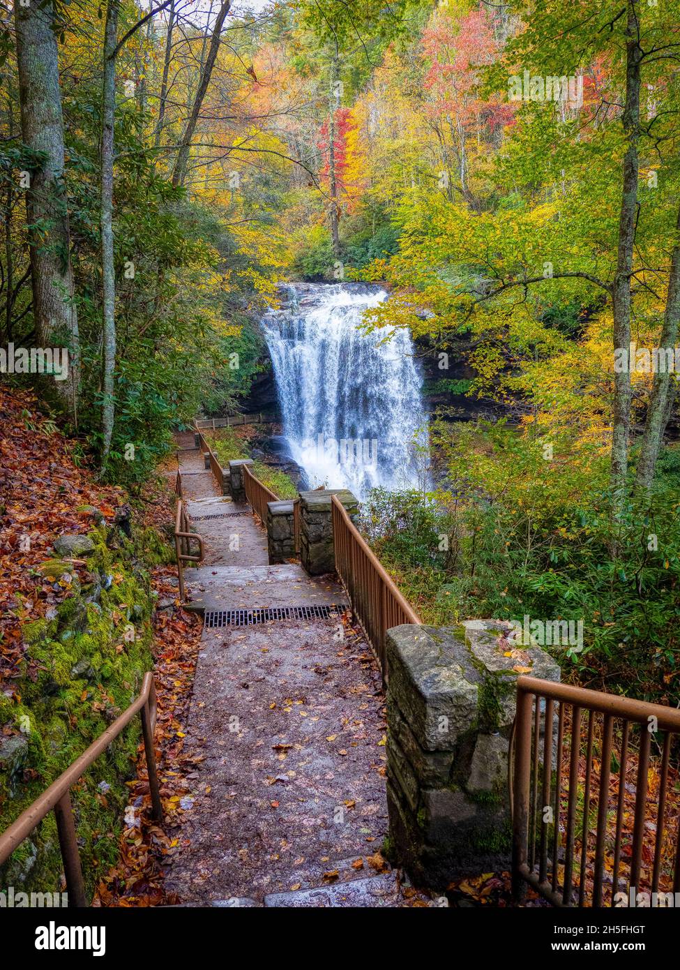
[(331, 508), (336, 570), (347, 591), (352, 614), (366, 633), (386, 681), (387, 630), (403, 623), (420, 624), (420, 617), (380, 565), (335, 495), (331, 496)]

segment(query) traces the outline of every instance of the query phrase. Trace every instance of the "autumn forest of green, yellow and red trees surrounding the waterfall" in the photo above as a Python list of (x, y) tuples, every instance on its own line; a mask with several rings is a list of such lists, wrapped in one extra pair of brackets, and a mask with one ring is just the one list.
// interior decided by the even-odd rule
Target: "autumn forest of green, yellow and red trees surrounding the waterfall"
[(588, 616), (580, 663), (675, 691), (677, 0), (0, 10), (0, 343), (68, 348), (102, 475), (238, 406), (279, 282), (379, 281), (364, 326), (497, 405), (433, 420), (435, 551), (373, 497), (411, 595)]

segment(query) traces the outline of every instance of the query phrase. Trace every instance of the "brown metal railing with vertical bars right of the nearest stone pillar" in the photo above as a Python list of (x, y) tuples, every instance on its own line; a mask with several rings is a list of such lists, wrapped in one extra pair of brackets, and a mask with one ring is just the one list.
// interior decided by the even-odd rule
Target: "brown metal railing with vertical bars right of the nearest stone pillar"
[(527, 884), (554, 906), (680, 891), (680, 807), (668, 797), (679, 733), (676, 708), (518, 679), (510, 759), (516, 901)]

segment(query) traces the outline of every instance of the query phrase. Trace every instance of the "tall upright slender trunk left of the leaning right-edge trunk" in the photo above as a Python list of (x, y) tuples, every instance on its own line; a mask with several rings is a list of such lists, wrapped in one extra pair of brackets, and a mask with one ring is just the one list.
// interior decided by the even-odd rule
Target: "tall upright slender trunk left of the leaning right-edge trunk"
[[(621, 213), (619, 216), (619, 248), (616, 275), (612, 286), (614, 316), (614, 348), (631, 344), (631, 272), (637, 218), (637, 187), (639, 179), (638, 141), (640, 135), (640, 60), (638, 43), (638, 0), (628, 0), (626, 28), (626, 105), (623, 126), (628, 142), (623, 163)], [(611, 488), (616, 508), (625, 495), (628, 472), (629, 432), (631, 426), (631, 371), (624, 368), (614, 374), (614, 415), (611, 442)]]

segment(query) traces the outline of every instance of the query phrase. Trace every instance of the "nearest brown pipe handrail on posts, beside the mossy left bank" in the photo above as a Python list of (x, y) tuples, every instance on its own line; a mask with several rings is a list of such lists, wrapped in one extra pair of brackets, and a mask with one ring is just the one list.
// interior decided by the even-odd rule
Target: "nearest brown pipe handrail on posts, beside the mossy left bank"
[(71, 789), (81, 779), (87, 768), (106, 751), (112, 741), (128, 726), (136, 714), (142, 714), (142, 731), (146, 754), (146, 772), (148, 774), (148, 790), (151, 796), (151, 812), (154, 821), (163, 821), (163, 806), (158, 787), (156, 759), (153, 751), (153, 730), (156, 725), (156, 694), (153, 686), (153, 675), (145, 674), (142, 693), (134, 700), (120, 717), (116, 718), (111, 727), (107, 727), (96, 741), (73, 762), (56, 781), (52, 782), (32, 805), (19, 815), (9, 828), (0, 834), (0, 865), (7, 861), (17, 846), (27, 838), (36, 825), (53, 811), (59, 835), (59, 849), (64, 863), (66, 889), (69, 906), (84, 907), (87, 905), (85, 886), (82, 879), (81, 855), (78, 849), (76, 823), (71, 805)]

